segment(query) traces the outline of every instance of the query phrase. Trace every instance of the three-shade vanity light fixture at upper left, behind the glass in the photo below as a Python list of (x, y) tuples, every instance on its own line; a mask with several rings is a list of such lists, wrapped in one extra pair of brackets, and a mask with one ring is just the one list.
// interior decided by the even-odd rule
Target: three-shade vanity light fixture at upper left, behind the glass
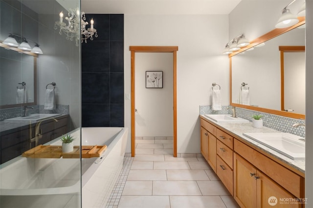
[(6, 38), (2, 43), (8, 46), (12, 46), (12, 47), (18, 47), (18, 49), (21, 49), (23, 51), (30, 51), (36, 54), (43, 54), (43, 51), (39, 47), (38, 43), (31, 41), (35, 44), (34, 48), (31, 48), (27, 40), (31, 41), (22, 36), (10, 34), (9, 37)]

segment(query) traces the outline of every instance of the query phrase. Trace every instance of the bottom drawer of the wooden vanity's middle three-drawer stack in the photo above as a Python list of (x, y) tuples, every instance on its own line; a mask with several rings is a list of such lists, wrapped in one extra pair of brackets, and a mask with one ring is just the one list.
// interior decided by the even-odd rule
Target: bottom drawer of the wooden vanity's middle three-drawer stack
[(216, 157), (217, 175), (223, 182), (226, 189), (233, 196), (233, 170), (221, 159), (218, 155)]

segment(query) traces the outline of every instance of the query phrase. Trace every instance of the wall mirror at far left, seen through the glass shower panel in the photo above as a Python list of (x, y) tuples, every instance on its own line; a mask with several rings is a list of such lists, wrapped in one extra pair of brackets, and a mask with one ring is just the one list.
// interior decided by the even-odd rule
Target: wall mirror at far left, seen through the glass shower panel
[(0, 108), (35, 105), (37, 55), (0, 43)]

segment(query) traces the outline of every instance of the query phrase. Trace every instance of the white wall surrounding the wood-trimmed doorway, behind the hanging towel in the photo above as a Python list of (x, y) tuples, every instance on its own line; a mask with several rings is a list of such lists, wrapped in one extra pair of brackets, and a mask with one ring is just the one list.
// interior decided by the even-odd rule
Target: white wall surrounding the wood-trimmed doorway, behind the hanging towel
[[(129, 46), (178, 46), (178, 153), (200, 153), (199, 105), (211, 104), (212, 82), (221, 85), (222, 104), (229, 104), (227, 15), (125, 15), (125, 94), (131, 93)], [(125, 100), (125, 126), (131, 127), (131, 102)], [(126, 152), (131, 152), (129, 135)]]

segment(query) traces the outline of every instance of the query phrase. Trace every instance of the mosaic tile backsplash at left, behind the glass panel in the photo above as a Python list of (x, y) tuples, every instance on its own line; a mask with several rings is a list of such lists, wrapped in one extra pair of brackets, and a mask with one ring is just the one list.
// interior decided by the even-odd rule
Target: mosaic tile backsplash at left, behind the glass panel
[[(33, 105), (28, 106), (32, 107), (28, 110), (28, 114), (34, 113), (59, 113), (59, 114), (69, 114), (69, 105), (57, 105), (55, 110), (44, 110), (44, 105)], [(7, 109), (0, 109), (0, 121), (8, 118), (15, 118), (22, 116), (24, 112), (24, 107), (18, 108), (7, 108)]]

